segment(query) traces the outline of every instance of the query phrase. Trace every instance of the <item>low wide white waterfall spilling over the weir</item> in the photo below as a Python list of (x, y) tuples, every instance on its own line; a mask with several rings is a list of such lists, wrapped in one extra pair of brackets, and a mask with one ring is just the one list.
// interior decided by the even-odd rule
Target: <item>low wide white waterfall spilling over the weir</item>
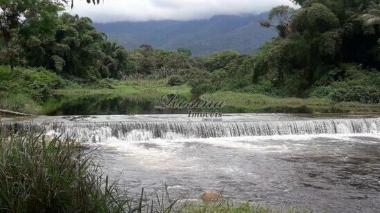
[[(72, 122), (17, 123), (17, 129), (45, 128), (88, 142), (105, 142), (110, 138), (124, 141), (150, 139), (218, 138), (236, 136), (378, 134), (380, 118), (321, 119), (310, 121), (263, 122)], [(10, 128), (6, 124), (3, 127)]]

